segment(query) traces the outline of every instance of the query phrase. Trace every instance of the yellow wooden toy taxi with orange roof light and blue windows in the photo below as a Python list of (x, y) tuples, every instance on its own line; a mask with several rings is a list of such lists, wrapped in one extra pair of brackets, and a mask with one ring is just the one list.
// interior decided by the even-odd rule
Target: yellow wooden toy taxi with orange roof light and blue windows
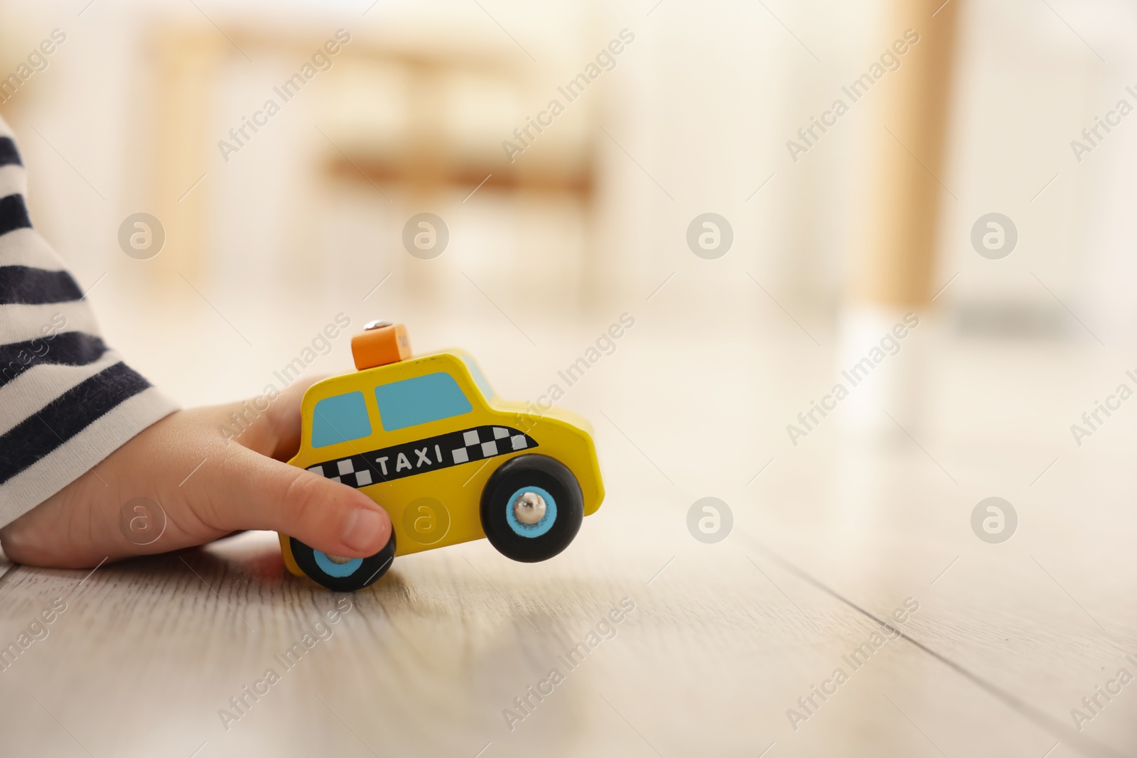
[(463, 351), (412, 358), (401, 324), (367, 324), (351, 352), (359, 370), (305, 393), (300, 450), (289, 463), (362, 490), (390, 515), (391, 539), (349, 559), (281, 534), (292, 574), (360, 590), (396, 555), (483, 536), (514, 560), (545, 560), (600, 507), (584, 419), (499, 400)]

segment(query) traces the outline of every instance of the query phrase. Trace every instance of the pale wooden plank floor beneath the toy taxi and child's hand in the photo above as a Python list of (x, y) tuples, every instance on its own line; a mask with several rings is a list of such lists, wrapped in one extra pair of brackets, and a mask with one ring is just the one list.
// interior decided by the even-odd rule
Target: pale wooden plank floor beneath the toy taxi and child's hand
[[(573, 398), (608, 499), (555, 560), (481, 541), (400, 558), (354, 595), (289, 576), (264, 533), (92, 574), (8, 567), (0, 642), (66, 610), (0, 672), (0, 755), (1137, 753), (1137, 684), (1097, 695), (1080, 731), (1071, 716), (1137, 675), (1137, 416), (1093, 448), (1068, 431), (1109, 372), (1072, 348), (945, 345), (918, 427), (866, 442), (835, 420), (794, 448), (789, 388), (824, 386), (830, 364), (669, 365), (665, 347), (645, 338)], [(715, 544), (687, 530), (707, 495), (733, 513)], [(970, 527), (989, 495), (1019, 514), (1002, 544)], [(326, 639), (282, 665), (314, 628)], [(233, 708), (268, 668), (279, 681)]]

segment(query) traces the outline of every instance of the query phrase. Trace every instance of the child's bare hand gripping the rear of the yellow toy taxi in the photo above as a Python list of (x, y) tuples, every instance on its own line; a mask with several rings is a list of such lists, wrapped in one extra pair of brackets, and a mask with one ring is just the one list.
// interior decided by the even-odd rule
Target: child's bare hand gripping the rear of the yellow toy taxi
[[(387, 511), (345, 484), (280, 463), (300, 444), (300, 399), (310, 383), (290, 386), (227, 444), (221, 427), (233, 427), (236, 403), (167, 416), (0, 530), (5, 553), (34, 566), (90, 567), (240, 530), (284, 532), (334, 556), (379, 552), (391, 534)], [(134, 498), (165, 510), (165, 532), (150, 544), (134, 544), (119, 527)]]

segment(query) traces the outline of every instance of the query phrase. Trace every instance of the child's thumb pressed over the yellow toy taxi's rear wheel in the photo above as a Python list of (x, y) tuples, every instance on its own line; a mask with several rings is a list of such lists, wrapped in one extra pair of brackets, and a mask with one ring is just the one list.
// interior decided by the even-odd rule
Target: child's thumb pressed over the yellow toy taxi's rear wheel
[(390, 517), (367, 495), (251, 451), (230, 458), (207, 485), (218, 528), (283, 532), (348, 558), (379, 552), (391, 535)]

